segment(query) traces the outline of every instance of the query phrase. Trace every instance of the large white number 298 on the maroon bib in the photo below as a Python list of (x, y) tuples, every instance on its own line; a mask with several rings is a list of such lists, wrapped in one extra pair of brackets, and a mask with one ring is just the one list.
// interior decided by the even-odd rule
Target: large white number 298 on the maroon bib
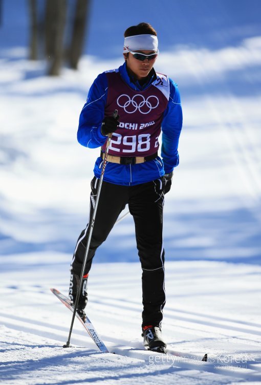
[(150, 147), (150, 134), (140, 134), (138, 136), (123, 136), (113, 133), (110, 148), (113, 151), (123, 153), (135, 153), (148, 151)]

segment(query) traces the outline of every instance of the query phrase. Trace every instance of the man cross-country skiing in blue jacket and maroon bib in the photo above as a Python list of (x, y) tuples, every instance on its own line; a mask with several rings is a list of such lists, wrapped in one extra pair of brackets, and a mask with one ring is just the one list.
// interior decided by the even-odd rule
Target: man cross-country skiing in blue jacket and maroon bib
[[(135, 222), (142, 267), (144, 346), (162, 350), (166, 347), (161, 336), (165, 305), (163, 203), (164, 195), (170, 189), (173, 168), (179, 164), (182, 109), (177, 84), (153, 68), (159, 53), (155, 29), (140, 23), (129, 27), (124, 37), (124, 64), (119, 69), (98, 75), (79, 119), (79, 143), (89, 148), (101, 146), (91, 182), (90, 218), (107, 135), (112, 134), (112, 138), (77, 309), (84, 317), (86, 285), (95, 251), (128, 204)], [(119, 115), (114, 116), (115, 110)], [(161, 130), (162, 159), (158, 156)], [(89, 231), (90, 225), (87, 225), (79, 236), (73, 256), (69, 290), (73, 304)]]

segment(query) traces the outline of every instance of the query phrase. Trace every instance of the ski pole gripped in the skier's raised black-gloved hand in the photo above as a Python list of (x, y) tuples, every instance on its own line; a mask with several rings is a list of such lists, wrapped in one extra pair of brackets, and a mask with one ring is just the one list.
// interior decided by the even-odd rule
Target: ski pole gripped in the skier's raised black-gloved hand
[[(116, 118), (117, 115), (118, 115), (118, 110), (115, 110), (113, 113), (113, 117)], [(63, 348), (69, 348), (70, 347), (70, 339), (71, 339), (71, 335), (72, 335), (75, 314), (76, 314), (76, 310), (77, 310), (77, 306), (78, 306), (78, 302), (79, 302), (79, 297), (80, 297), (81, 285), (82, 285), (82, 281), (83, 281), (83, 273), (85, 270), (85, 266), (86, 266), (87, 258), (88, 258), (88, 253), (89, 253), (89, 249), (90, 249), (93, 227), (94, 227), (94, 222), (95, 222), (95, 217), (96, 217), (96, 212), (97, 212), (97, 207), (98, 207), (98, 202), (99, 202), (99, 197), (100, 197), (100, 192), (101, 192), (101, 185), (102, 185), (103, 175), (104, 175), (104, 171), (105, 171), (105, 167), (106, 167), (106, 163), (107, 163), (108, 149), (110, 147), (112, 135), (113, 135), (112, 133), (108, 134), (108, 138), (107, 138), (106, 149), (105, 149), (105, 154), (104, 154), (104, 161), (103, 161), (101, 176), (100, 176), (100, 182), (98, 185), (97, 198), (96, 198), (96, 202), (95, 202), (95, 206), (94, 206), (94, 210), (93, 210), (93, 216), (92, 216), (92, 220), (91, 220), (91, 227), (90, 227), (90, 232), (89, 232), (89, 236), (88, 236), (88, 242), (87, 242), (86, 249), (85, 249), (85, 254), (84, 254), (84, 259), (83, 259), (83, 264), (82, 264), (82, 269), (81, 269), (80, 282), (79, 282), (79, 286), (77, 288), (77, 295), (76, 295), (76, 299), (75, 299), (75, 303), (74, 303), (74, 311), (73, 311), (73, 316), (72, 316), (71, 327), (70, 327), (70, 331), (69, 331), (68, 341), (67, 341), (66, 345), (63, 345)]]

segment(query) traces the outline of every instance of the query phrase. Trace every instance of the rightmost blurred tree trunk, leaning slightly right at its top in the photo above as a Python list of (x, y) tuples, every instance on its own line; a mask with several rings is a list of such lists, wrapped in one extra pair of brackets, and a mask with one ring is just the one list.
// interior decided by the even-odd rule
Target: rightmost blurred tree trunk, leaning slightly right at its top
[(75, 7), (72, 39), (68, 50), (69, 66), (75, 70), (82, 53), (90, 3), (91, 0), (77, 0)]

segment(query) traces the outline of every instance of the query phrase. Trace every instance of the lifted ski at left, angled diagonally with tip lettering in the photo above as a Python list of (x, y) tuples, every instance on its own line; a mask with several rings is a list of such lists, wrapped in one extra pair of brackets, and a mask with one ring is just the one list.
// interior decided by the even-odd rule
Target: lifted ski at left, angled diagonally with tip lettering
[[(71, 305), (71, 301), (70, 299), (66, 296), (66, 295), (63, 295), (62, 293), (59, 292), (59, 290), (57, 289), (50, 289), (52, 291), (52, 293), (54, 295), (56, 295), (57, 298), (59, 298), (59, 300), (63, 303), (63, 305), (65, 305), (68, 309), (70, 309), (72, 312), (74, 311), (74, 308), (73, 306)], [(98, 333), (96, 332), (96, 330), (94, 329), (94, 326), (93, 324), (91, 323), (91, 320), (86, 316), (86, 319), (83, 320), (81, 318), (81, 316), (78, 314), (78, 312), (76, 311), (76, 317), (80, 320), (81, 324), (84, 326), (84, 328), (86, 329), (86, 331), (88, 331), (90, 337), (92, 338), (92, 340), (94, 341), (94, 343), (96, 344), (96, 346), (98, 347), (98, 349), (102, 352), (102, 353), (108, 353), (108, 349), (106, 348), (106, 346), (104, 345), (103, 341), (100, 339)]]

